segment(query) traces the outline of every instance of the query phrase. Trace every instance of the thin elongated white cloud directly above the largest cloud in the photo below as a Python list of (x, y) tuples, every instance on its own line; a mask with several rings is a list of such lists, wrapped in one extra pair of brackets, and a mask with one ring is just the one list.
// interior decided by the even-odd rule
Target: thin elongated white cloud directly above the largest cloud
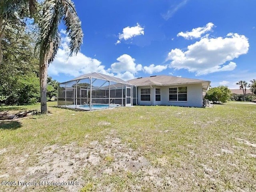
[(192, 31), (186, 31), (186, 32), (179, 32), (177, 36), (182, 36), (185, 39), (193, 39), (193, 38), (200, 38), (202, 34), (211, 31), (214, 27), (213, 23), (208, 23), (204, 27), (198, 27), (192, 29)]

